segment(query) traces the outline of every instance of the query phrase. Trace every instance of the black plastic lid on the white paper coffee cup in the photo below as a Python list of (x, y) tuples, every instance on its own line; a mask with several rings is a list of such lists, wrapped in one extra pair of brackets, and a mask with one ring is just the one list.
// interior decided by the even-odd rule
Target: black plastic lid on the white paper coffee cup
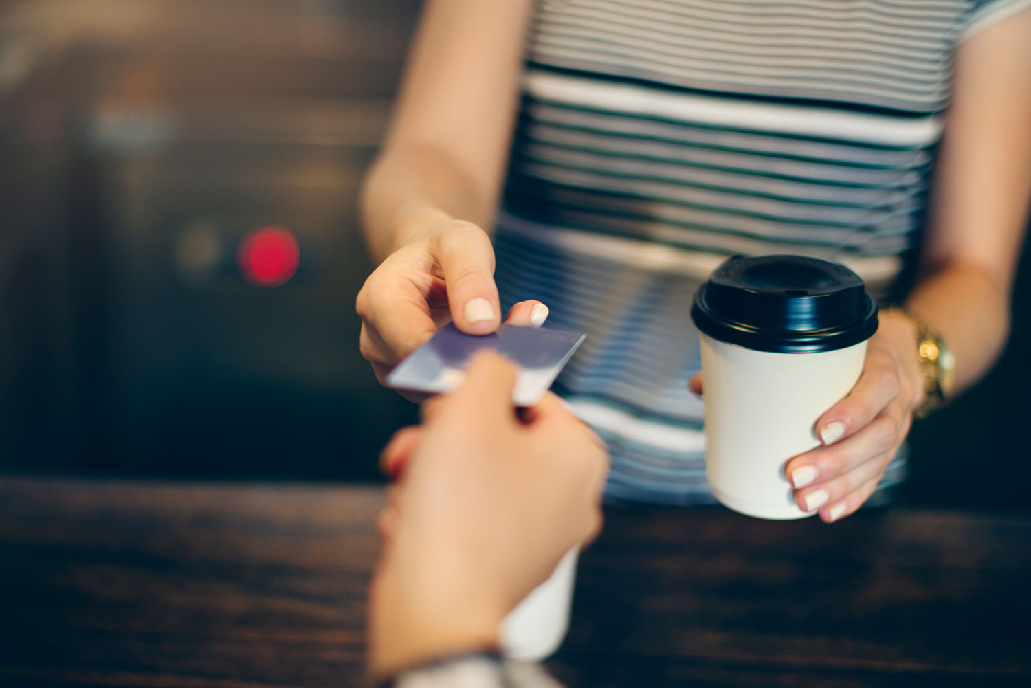
[(731, 258), (695, 294), (691, 317), (714, 339), (785, 354), (844, 349), (877, 331), (859, 275), (804, 256)]

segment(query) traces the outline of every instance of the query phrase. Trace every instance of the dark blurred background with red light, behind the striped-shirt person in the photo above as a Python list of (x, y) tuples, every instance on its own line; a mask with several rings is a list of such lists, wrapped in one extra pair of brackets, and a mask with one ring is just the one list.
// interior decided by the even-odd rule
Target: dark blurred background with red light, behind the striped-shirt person
[[(356, 195), (419, 5), (0, 0), (0, 470), (379, 480), (415, 412), (358, 352)], [(1027, 254), (910, 503), (1031, 511)]]

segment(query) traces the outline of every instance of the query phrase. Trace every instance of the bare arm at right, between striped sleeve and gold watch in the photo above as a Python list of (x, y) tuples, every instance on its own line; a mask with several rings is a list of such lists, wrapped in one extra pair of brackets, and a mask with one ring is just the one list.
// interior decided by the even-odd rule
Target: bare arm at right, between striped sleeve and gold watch
[(1031, 9), (963, 41), (955, 57), (910, 309), (956, 357), (961, 391), (992, 366), (1009, 333), (1016, 257), (1031, 198)]

